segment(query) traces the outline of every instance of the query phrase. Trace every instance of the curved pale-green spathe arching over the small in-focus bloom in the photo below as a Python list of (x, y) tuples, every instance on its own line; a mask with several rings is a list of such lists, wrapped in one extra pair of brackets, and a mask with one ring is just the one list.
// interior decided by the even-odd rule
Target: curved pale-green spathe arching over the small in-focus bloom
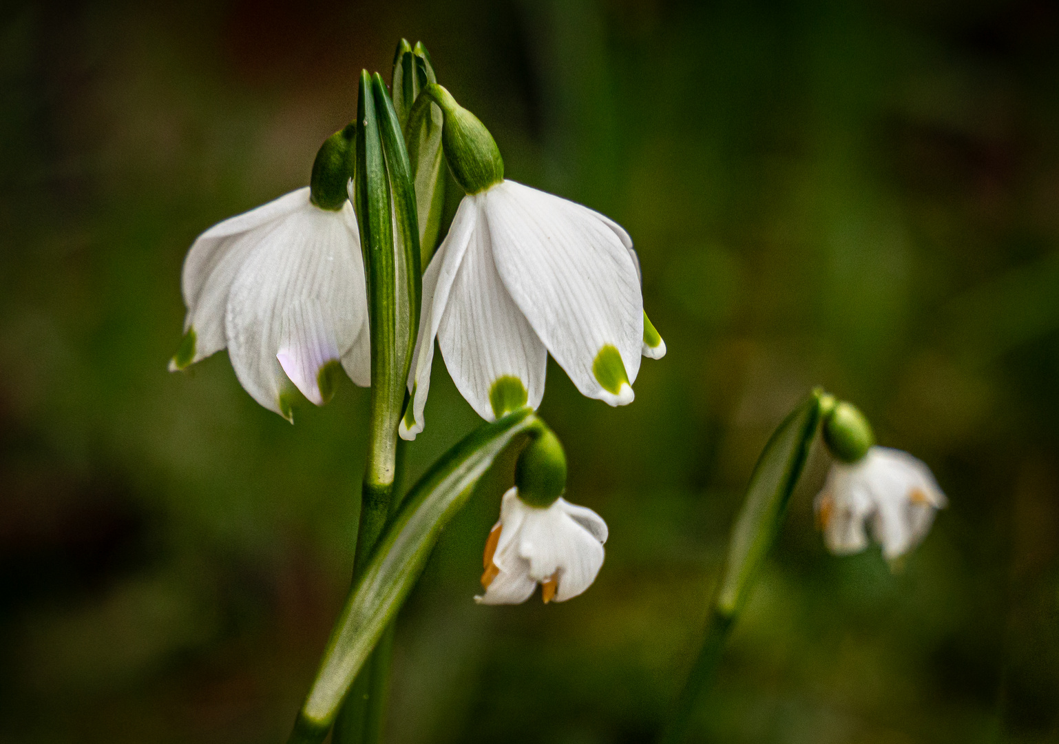
[(527, 408), (470, 433), (409, 492), (349, 594), (290, 742), (321, 742), (342, 698), (423, 571), (442, 530), (478, 479), (520, 435), (543, 427)]

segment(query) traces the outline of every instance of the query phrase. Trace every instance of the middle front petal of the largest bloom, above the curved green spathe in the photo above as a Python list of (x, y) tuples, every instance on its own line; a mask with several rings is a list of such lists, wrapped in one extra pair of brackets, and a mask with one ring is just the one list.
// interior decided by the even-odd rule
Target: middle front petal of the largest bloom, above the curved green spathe
[(502, 377), (518, 379), (528, 405), (540, 405), (548, 351), (497, 273), (481, 214), (452, 282), (437, 341), (460, 393), (486, 421), (497, 418), (490, 392)]

